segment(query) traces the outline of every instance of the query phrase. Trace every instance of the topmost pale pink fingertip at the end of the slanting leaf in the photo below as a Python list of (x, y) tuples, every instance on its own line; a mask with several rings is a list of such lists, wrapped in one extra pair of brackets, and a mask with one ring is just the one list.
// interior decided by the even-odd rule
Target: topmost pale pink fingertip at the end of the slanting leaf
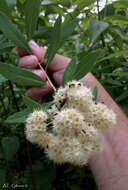
[(39, 62), (44, 63), (45, 62), (44, 55), (45, 55), (46, 50), (38, 46), (38, 44), (34, 42), (33, 40), (29, 41), (28, 44), (29, 44), (32, 54), (38, 58)]

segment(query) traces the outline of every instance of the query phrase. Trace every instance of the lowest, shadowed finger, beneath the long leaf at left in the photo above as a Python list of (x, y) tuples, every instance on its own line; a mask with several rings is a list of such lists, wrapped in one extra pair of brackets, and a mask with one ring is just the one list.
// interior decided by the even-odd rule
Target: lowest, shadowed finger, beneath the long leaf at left
[(26, 96), (29, 98), (40, 102), (42, 100), (42, 97), (45, 96), (48, 92), (51, 91), (51, 86), (42, 86), (40, 87), (32, 87), (26, 92)]

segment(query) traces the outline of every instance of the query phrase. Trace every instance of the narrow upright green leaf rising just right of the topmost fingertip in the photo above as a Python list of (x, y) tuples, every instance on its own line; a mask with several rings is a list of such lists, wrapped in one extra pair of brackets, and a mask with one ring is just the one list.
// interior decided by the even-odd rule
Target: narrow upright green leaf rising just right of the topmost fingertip
[(52, 37), (50, 40), (50, 46), (48, 47), (46, 53), (47, 66), (51, 63), (52, 59), (54, 58), (61, 42), (61, 22), (62, 19), (61, 16), (59, 16), (54, 25)]

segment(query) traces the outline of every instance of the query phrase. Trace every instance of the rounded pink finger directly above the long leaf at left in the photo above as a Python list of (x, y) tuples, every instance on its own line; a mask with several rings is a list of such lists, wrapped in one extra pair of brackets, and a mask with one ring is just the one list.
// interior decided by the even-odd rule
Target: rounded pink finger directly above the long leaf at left
[(19, 65), (20, 68), (31, 68), (35, 69), (38, 67), (38, 59), (35, 55), (27, 55), (20, 58)]

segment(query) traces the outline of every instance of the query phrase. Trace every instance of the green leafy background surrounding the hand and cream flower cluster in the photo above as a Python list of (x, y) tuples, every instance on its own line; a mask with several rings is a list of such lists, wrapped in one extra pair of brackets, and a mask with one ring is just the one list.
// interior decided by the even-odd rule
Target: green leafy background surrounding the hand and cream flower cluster
[[(44, 105), (24, 97), (23, 86), (45, 83), (31, 70), (17, 68), (15, 46), (28, 54), (30, 39), (48, 46), (47, 65), (56, 53), (71, 57), (63, 85), (91, 71), (128, 113), (127, 8), (127, 0), (106, 3), (102, 10), (96, 0), (0, 1), (0, 187), (17, 183), (34, 190), (97, 189), (89, 166), (54, 165), (26, 141), (25, 118), (33, 109), (47, 110), (52, 93)], [(93, 93), (96, 99), (97, 87)]]

